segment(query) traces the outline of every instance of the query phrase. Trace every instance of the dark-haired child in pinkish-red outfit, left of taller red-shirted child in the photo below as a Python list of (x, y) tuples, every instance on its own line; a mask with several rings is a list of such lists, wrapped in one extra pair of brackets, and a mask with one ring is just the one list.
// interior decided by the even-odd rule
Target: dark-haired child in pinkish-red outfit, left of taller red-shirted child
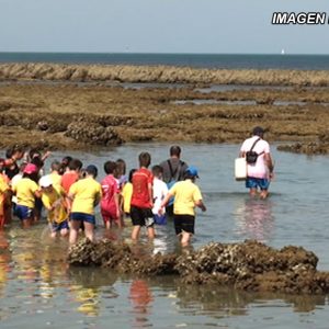
[(106, 229), (110, 229), (115, 223), (118, 228), (122, 228), (121, 208), (118, 204), (120, 190), (117, 181), (114, 178), (117, 164), (113, 161), (104, 163), (104, 171), (106, 177), (102, 180), (102, 200), (101, 214)]

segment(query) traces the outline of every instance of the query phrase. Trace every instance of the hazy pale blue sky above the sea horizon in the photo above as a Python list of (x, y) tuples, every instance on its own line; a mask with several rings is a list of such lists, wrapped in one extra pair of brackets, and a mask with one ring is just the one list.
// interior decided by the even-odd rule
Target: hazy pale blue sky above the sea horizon
[(328, 0), (0, 0), (0, 52), (329, 54)]

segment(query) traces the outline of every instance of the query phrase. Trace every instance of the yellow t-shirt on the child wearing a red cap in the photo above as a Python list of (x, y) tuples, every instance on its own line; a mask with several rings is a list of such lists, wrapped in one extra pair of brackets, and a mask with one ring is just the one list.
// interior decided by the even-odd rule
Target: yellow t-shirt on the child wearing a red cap
[(24, 205), (29, 208), (34, 208), (35, 196), (34, 193), (38, 190), (36, 182), (29, 178), (22, 178), (16, 184), (12, 186), (16, 194), (18, 204)]

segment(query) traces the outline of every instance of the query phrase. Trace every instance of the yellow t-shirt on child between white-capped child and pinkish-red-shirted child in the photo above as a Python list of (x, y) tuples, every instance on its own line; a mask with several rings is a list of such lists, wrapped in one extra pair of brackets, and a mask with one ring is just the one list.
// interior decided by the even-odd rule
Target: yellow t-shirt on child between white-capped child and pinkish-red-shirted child
[(94, 179), (86, 178), (71, 185), (69, 195), (73, 196), (72, 213), (93, 215), (93, 208), (102, 196), (102, 186)]

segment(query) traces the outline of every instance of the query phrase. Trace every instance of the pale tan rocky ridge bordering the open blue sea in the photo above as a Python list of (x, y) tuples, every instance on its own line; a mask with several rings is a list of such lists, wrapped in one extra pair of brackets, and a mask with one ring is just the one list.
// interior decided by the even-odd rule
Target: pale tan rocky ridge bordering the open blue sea
[(329, 86), (326, 70), (204, 69), (181, 66), (0, 64), (0, 80), (118, 81), (192, 84)]

